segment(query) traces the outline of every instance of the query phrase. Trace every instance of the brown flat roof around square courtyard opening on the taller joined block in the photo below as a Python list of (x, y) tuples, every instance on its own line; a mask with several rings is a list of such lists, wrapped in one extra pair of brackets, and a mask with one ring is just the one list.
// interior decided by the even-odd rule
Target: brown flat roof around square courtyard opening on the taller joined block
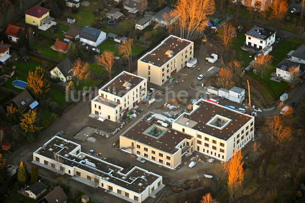
[[(199, 107), (194, 109), (190, 114), (183, 113), (174, 122), (224, 141), (227, 141), (246, 123), (251, 119), (254, 119), (253, 116), (240, 113), (203, 99), (200, 99), (196, 105), (199, 105)], [(217, 115), (230, 120), (223, 129), (207, 125), (207, 123)]]

